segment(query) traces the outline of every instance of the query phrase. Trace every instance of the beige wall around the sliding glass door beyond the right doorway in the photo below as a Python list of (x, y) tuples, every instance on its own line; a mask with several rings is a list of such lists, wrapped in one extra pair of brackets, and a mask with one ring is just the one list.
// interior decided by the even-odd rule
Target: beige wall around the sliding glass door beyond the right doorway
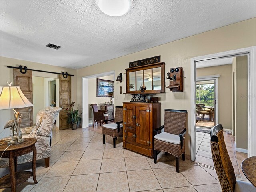
[(198, 68), (196, 76), (220, 75), (218, 78), (218, 123), (232, 129), (232, 64)]

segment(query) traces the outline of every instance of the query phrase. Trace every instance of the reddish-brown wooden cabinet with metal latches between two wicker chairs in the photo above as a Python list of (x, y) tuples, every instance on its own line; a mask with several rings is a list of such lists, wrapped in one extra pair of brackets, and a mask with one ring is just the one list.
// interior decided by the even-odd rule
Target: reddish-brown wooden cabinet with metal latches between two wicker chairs
[(161, 103), (125, 102), (123, 146), (153, 157), (153, 129), (161, 126)]

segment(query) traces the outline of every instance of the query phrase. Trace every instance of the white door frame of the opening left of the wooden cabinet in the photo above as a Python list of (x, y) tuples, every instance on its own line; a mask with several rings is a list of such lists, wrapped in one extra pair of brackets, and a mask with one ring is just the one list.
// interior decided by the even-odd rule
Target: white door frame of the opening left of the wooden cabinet
[[(108, 71), (108, 72), (104, 72), (104, 73), (99, 73), (99, 74), (94, 74), (94, 75), (89, 75), (89, 76), (84, 76), (82, 77), (82, 127), (88, 127), (89, 126), (89, 95), (88, 95), (88, 91), (89, 91), (89, 84), (88, 84), (88, 79), (91, 78), (98, 78), (98, 77), (102, 77), (102, 76), (108, 76), (108, 75), (113, 75), (113, 81), (115, 82), (115, 71)], [(115, 95), (115, 91), (116, 91), (116, 86), (114, 83), (114, 95)], [(115, 96), (113, 95), (113, 97), (115, 98)], [(115, 104), (115, 102), (114, 102)]]

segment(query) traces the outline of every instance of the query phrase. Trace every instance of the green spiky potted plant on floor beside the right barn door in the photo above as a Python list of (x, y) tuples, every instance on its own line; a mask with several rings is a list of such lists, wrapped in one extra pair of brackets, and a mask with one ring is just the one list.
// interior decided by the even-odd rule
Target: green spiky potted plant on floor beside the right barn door
[(71, 102), (70, 104), (70, 108), (66, 108), (67, 110), (67, 115), (68, 115), (68, 124), (71, 125), (72, 129), (76, 129), (77, 128), (77, 124), (78, 122), (81, 121), (81, 117), (80, 115), (82, 113), (79, 114), (79, 110), (74, 106), (75, 102)]

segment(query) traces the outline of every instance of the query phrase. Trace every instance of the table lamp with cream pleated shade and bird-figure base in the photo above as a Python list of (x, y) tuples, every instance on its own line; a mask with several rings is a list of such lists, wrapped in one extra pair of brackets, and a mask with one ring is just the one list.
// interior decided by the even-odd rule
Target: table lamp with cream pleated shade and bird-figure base
[[(12, 86), (12, 83), (8, 83), (8, 86), (0, 86), (0, 110), (2, 109), (12, 109), (14, 108), (24, 108), (24, 107), (30, 107), (33, 106), (32, 103), (29, 102), (29, 100), (24, 96), (22, 91), (20, 90), (20, 86)], [(8, 145), (10, 144), (20, 144), (24, 141), (24, 138), (22, 138), (22, 134), (20, 131), (20, 124), (21, 124), (21, 115), (16, 110), (14, 110), (14, 120), (10, 120), (7, 122), (7, 124), (10, 124), (9, 126), (6, 124), (7, 127), (11, 127), (11, 130), (15, 130), (17, 135), (13, 136), (12, 140), (8, 142)], [(14, 123), (14, 124), (13, 124)]]

